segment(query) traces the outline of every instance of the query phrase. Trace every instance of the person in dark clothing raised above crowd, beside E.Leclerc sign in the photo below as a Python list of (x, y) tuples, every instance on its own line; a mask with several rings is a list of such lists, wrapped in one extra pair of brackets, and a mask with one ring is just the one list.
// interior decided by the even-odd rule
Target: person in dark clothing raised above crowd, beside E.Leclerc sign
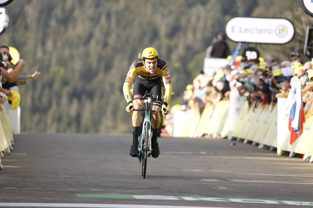
[(218, 40), (213, 43), (210, 57), (212, 58), (227, 58), (230, 55), (229, 47), (226, 42), (224, 33), (219, 33), (217, 36)]

